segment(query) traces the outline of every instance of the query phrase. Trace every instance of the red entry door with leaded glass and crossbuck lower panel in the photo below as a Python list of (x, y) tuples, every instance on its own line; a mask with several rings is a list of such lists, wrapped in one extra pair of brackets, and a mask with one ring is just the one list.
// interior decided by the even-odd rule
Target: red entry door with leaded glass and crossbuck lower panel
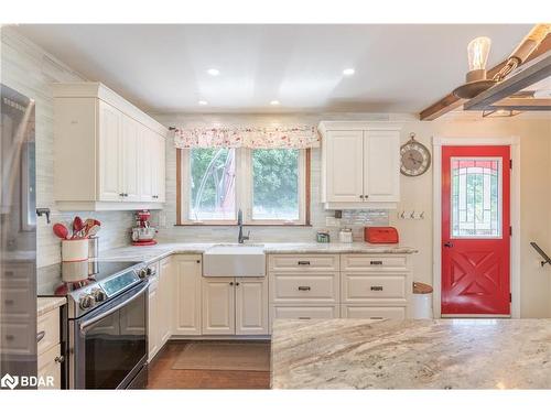
[(510, 315), (509, 152), (442, 148), (442, 315)]

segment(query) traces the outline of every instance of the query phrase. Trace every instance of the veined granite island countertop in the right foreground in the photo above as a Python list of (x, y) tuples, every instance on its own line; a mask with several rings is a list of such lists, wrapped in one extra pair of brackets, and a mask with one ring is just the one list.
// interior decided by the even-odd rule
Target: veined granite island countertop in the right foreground
[(273, 389), (551, 389), (551, 319), (274, 322)]

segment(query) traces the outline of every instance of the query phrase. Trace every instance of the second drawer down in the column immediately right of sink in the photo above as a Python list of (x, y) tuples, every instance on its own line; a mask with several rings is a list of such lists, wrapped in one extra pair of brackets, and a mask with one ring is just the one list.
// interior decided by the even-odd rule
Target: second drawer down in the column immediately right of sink
[(327, 303), (338, 301), (338, 273), (271, 274), (272, 303)]

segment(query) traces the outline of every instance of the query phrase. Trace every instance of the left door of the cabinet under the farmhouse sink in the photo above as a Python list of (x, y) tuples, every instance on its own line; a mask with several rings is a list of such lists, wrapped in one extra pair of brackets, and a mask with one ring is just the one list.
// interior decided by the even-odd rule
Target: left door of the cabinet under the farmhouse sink
[(203, 278), (204, 335), (233, 335), (235, 328), (234, 278)]

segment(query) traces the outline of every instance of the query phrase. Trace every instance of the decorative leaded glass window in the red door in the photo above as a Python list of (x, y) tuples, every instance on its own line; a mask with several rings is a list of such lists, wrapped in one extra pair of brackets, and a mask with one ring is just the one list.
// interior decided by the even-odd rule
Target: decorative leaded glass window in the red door
[(501, 238), (501, 159), (452, 157), (452, 238)]

